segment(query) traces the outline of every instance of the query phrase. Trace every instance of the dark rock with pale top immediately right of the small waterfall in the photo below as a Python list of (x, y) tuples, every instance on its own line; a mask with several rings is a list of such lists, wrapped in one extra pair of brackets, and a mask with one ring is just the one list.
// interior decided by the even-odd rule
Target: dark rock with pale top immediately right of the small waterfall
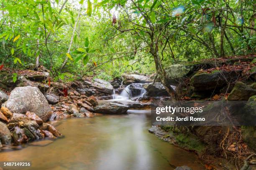
[[(143, 84), (143, 88), (146, 89), (148, 96), (164, 96), (168, 95), (168, 92), (166, 92), (164, 85), (161, 82), (155, 82), (153, 85), (153, 82), (151, 83), (145, 83)], [(175, 86), (173, 86), (175, 90)]]

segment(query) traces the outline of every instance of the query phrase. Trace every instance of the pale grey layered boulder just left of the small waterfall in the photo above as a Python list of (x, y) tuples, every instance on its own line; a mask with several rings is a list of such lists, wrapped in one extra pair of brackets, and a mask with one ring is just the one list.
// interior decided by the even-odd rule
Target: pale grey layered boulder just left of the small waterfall
[(101, 80), (101, 79), (95, 79), (94, 82), (89, 82), (89, 81), (84, 81), (84, 84), (95, 88), (97, 91), (99, 92), (103, 92), (106, 94), (112, 94), (113, 93), (113, 86), (110, 84), (110, 82), (105, 81), (105, 80)]

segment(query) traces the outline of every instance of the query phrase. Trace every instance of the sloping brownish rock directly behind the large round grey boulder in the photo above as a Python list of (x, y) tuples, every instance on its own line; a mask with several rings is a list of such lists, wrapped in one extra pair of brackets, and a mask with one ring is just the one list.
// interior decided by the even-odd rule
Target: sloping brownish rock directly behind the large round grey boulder
[(38, 89), (43, 93), (49, 89), (49, 85), (46, 85), (41, 82), (33, 82), (30, 80), (27, 80), (24, 76), (19, 76), (17, 81), (19, 82), (17, 84), (17, 87), (26, 87), (26, 86), (38, 87)]

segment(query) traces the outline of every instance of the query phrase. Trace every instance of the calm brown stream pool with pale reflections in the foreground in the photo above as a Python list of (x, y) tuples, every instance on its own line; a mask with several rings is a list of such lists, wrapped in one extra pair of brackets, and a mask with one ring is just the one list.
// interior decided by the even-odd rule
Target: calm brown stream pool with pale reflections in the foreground
[(18, 169), (33, 170), (173, 170), (182, 165), (204, 169), (194, 153), (148, 133), (149, 116), (135, 110), (128, 115), (57, 121), (64, 138), (4, 150), (0, 161), (29, 161), (30, 168)]

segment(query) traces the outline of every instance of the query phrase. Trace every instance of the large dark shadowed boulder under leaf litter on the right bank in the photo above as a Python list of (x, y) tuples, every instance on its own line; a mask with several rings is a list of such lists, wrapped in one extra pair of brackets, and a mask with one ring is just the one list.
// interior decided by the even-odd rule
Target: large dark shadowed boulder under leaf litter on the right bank
[(215, 70), (211, 73), (197, 73), (190, 79), (195, 91), (216, 90), (227, 84), (229, 80), (236, 80), (240, 71), (224, 72)]

